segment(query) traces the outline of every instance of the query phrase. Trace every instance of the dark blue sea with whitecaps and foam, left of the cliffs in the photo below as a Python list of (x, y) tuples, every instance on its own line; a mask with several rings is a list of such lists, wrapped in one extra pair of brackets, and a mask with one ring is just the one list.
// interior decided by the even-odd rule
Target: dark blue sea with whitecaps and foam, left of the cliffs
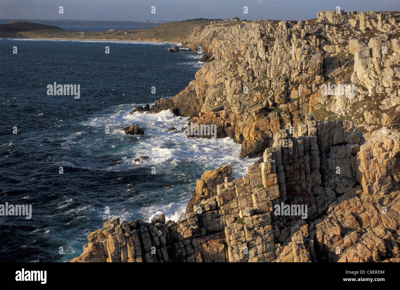
[[(0, 204), (32, 205), (31, 219), (0, 216), (0, 261), (68, 261), (111, 218), (177, 221), (204, 171), (230, 163), (239, 177), (254, 162), (239, 159), (229, 138), (167, 133), (188, 121), (170, 111), (129, 114), (178, 94), (204, 64), (171, 46), (0, 39)], [(80, 98), (48, 96), (54, 82), (79, 84)], [(120, 131), (136, 123), (144, 135)], [(135, 162), (140, 156), (150, 162)]]

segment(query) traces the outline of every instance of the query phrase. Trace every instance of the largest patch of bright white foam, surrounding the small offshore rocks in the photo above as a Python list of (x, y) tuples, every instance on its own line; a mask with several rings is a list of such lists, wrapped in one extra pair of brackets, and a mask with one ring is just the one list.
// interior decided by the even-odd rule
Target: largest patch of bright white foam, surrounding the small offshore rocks
[[(120, 106), (116, 109), (122, 109)], [(133, 143), (134, 147), (127, 147), (121, 155), (132, 155), (137, 153), (133, 158), (127, 158), (123, 161), (122, 165), (113, 165), (105, 170), (128, 170), (126, 165), (136, 165), (134, 159), (139, 156), (149, 156), (150, 163), (144, 165), (155, 165), (166, 161), (184, 160), (192, 158), (195, 161), (203, 164), (210, 164), (214, 167), (222, 166), (230, 163), (233, 169), (234, 176), (243, 175), (245, 166), (251, 165), (256, 160), (252, 159), (238, 159), (240, 155), (240, 145), (234, 143), (229, 137), (224, 139), (196, 139), (186, 138), (180, 130), (188, 123), (187, 118), (179, 119), (170, 111), (162, 111), (158, 114), (149, 113), (133, 113), (129, 115), (129, 110), (117, 111), (112, 115), (104, 115), (102, 117), (94, 117), (82, 125), (92, 126), (94, 128), (104, 128), (104, 125), (110, 126), (110, 134), (104, 135), (104, 138), (110, 137), (122, 139), (134, 139), (138, 142)], [(144, 129), (145, 135), (126, 135), (120, 128), (124, 126), (131, 126), (138, 124), (140, 128)], [(175, 127), (177, 133), (167, 133), (167, 129)], [(76, 139), (75, 135), (82, 132), (73, 134), (68, 141)], [(65, 146), (64, 144), (62, 144)], [(91, 146), (96, 144), (90, 143)]]

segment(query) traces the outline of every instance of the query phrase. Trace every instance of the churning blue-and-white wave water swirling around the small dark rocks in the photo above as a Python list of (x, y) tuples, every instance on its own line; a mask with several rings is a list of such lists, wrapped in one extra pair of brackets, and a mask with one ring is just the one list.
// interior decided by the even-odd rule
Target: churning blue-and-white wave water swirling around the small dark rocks
[[(128, 105), (128, 107), (130, 107)], [(130, 107), (131, 108), (131, 107)], [(129, 108), (129, 109), (130, 109)], [(240, 144), (229, 137), (223, 139), (187, 138), (181, 131), (186, 126), (188, 118), (174, 115), (171, 111), (161, 111), (157, 114), (133, 113), (129, 114), (126, 105), (114, 106), (110, 111), (101, 116), (93, 117), (80, 123), (88, 128), (86, 132), (79, 131), (64, 138), (61, 143), (63, 149), (72, 149), (74, 146), (86, 146), (86, 151), (96, 156), (114, 156), (116, 162), (110, 166), (96, 167), (92, 163), (79, 166), (73, 159), (68, 160), (69, 166), (87, 167), (105, 171), (126, 171), (137, 167), (161, 166), (165, 162), (194, 161), (207, 164), (214, 168), (230, 163), (233, 176), (245, 173), (245, 167), (256, 161), (256, 158), (239, 159)], [(125, 126), (138, 124), (144, 129), (144, 135), (126, 135), (120, 129)], [(105, 126), (109, 126), (110, 134), (105, 134)], [(175, 127), (173, 132), (167, 132), (170, 127)], [(81, 142), (82, 138), (89, 138)], [(113, 150), (110, 151), (109, 148)], [(135, 160), (140, 156), (149, 156), (150, 161), (138, 163)]]

